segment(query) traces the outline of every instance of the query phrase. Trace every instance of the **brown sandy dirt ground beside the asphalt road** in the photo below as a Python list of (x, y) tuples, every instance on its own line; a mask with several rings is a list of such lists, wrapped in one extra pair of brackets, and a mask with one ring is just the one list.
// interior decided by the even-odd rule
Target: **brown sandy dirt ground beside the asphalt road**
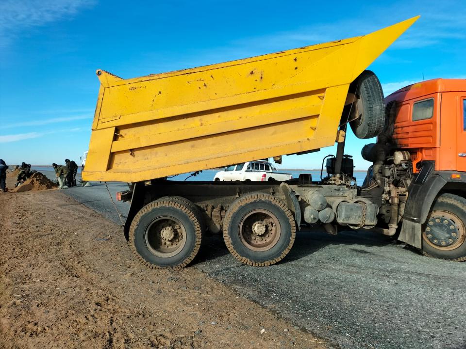
[(328, 348), (200, 270), (146, 269), (59, 190), (0, 212), (0, 348)]

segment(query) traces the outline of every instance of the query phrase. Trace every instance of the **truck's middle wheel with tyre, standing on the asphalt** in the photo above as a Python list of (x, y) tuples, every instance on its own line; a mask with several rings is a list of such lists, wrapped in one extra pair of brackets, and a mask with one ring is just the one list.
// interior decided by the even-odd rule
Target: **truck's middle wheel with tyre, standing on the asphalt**
[(223, 238), (233, 256), (250, 266), (269, 266), (291, 250), (295, 220), (278, 198), (249, 194), (233, 202), (223, 220)]

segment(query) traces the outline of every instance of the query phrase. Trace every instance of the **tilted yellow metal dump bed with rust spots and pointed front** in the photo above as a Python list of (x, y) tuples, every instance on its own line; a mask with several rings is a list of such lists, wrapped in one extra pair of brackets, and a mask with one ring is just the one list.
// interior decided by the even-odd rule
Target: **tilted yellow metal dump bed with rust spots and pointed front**
[(350, 83), (416, 19), (141, 78), (98, 70), (83, 179), (137, 182), (333, 145)]

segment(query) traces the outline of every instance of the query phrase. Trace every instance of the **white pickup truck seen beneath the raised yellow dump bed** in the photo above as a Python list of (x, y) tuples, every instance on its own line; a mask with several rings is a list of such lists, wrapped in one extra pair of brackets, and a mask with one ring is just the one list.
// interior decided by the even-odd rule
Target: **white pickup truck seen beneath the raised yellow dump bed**
[(277, 172), (270, 162), (257, 160), (228, 166), (215, 174), (214, 181), (283, 182), (291, 178), (291, 174)]

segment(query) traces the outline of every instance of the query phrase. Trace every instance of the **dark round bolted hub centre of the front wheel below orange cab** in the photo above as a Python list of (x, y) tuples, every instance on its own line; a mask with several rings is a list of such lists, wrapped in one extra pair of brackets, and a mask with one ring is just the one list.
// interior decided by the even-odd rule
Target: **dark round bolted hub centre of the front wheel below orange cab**
[(458, 241), (458, 227), (448, 217), (431, 217), (427, 222), (426, 236), (434, 245), (448, 247)]

